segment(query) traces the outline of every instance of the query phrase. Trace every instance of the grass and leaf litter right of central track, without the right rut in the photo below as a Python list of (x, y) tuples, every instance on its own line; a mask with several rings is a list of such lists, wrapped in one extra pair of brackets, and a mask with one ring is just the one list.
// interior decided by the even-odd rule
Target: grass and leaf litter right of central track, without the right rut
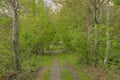
[[(77, 71), (77, 74), (80, 76), (80, 79), (82, 80), (94, 80), (94, 79), (100, 79), (100, 80), (119, 80), (119, 74), (114, 73), (113, 71), (109, 69), (103, 69), (102, 67), (94, 67), (94, 66), (88, 66), (86, 64), (80, 64), (80, 61), (78, 61), (78, 54), (60, 54), (58, 56), (59, 64), (61, 66), (61, 74), (62, 74), (62, 80), (73, 80), (73, 76), (71, 75), (71, 72), (66, 67), (67, 63), (70, 63), (72, 67)], [(69, 76), (69, 77), (68, 77)]]

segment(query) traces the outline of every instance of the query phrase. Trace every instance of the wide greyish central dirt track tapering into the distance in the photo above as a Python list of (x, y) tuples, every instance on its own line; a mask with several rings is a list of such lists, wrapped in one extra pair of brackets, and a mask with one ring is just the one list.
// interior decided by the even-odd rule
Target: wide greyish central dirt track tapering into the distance
[(55, 58), (55, 62), (51, 67), (50, 80), (61, 80), (60, 68), (59, 68), (58, 58), (57, 57)]

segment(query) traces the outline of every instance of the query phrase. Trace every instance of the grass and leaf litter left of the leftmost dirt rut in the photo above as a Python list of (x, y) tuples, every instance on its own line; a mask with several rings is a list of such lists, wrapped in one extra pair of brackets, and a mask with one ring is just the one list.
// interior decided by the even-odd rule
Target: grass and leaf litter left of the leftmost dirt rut
[[(15, 78), (12, 80), (34, 80), (36, 77), (37, 71), (40, 70), (40, 68), (46, 66), (50, 67), (54, 62), (54, 56), (44, 55), (44, 56), (37, 56), (32, 55), (30, 58), (23, 58), (21, 62), (21, 71), (16, 75)], [(10, 75), (13, 73), (16, 73), (13, 69), (11, 70), (5, 70), (4, 75)], [(48, 74), (48, 71), (45, 73)], [(3, 74), (1, 74), (3, 75)], [(47, 80), (47, 79), (46, 79)]]

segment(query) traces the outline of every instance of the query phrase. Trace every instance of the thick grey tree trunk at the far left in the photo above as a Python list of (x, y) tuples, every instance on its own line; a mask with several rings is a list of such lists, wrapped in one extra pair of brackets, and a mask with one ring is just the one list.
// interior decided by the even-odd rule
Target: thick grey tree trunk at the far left
[(12, 1), (13, 6), (13, 55), (15, 61), (15, 69), (20, 70), (20, 60), (19, 60), (19, 25), (18, 25), (18, 0)]

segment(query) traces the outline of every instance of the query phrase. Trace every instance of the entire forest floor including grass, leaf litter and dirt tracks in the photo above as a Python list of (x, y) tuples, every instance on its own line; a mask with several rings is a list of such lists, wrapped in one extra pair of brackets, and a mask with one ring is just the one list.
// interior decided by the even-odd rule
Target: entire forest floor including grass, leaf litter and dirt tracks
[(24, 70), (9, 80), (120, 80), (118, 73), (80, 65), (76, 54), (38, 56), (32, 61), (28, 66), (24, 62)]

